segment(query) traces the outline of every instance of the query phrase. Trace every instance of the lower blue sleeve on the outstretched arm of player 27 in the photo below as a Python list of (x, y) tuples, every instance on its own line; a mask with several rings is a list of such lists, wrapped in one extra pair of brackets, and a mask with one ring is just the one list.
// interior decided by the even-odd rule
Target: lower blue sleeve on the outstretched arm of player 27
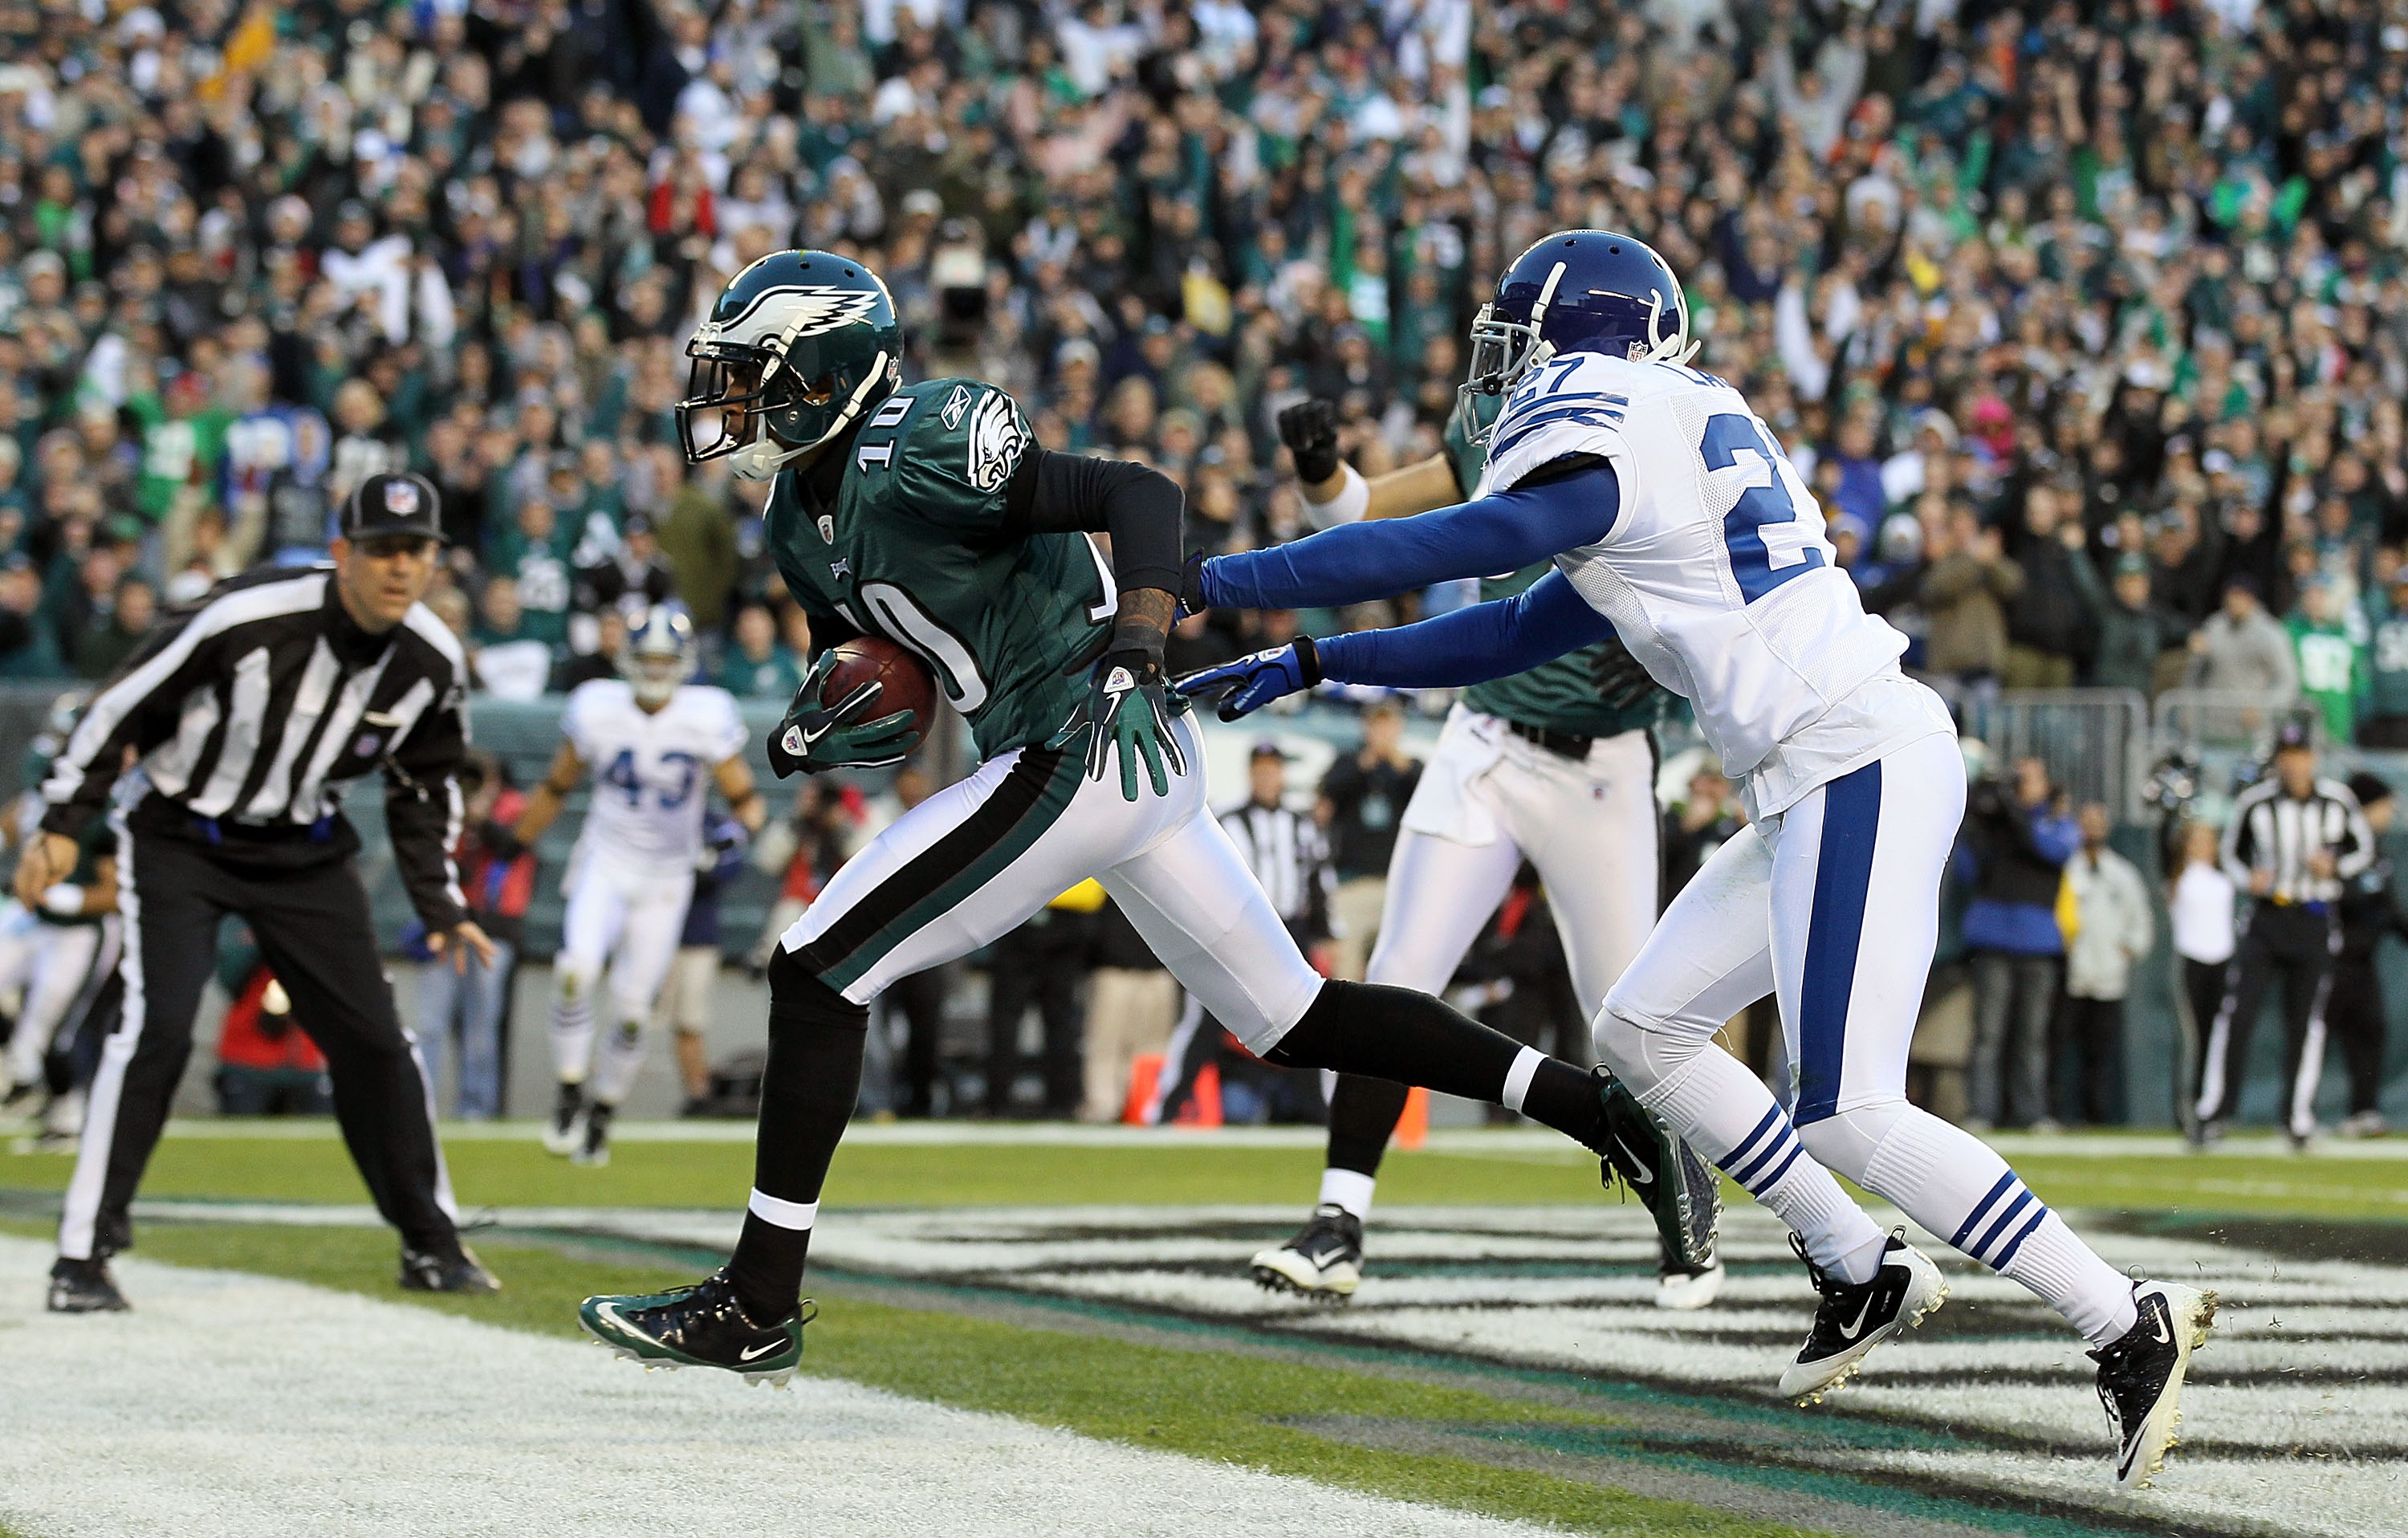
[[(1418, 520), (1416, 520), (1418, 522)], [(1529, 672), (1613, 635), (1606, 616), (1551, 570), (1510, 599), (1471, 604), (1394, 631), (1315, 640), (1322, 676), (1389, 688), (1459, 688)]]

